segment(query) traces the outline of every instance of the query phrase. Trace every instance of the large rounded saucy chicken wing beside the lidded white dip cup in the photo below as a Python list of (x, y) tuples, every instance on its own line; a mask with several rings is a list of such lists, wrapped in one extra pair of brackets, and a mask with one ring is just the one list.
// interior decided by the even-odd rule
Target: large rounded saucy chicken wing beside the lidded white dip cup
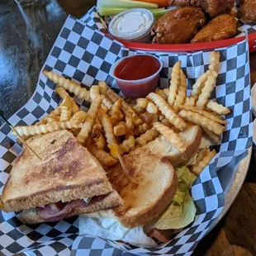
[(201, 8), (180, 7), (166, 12), (155, 22), (154, 44), (183, 44), (192, 40), (197, 31), (206, 23)]

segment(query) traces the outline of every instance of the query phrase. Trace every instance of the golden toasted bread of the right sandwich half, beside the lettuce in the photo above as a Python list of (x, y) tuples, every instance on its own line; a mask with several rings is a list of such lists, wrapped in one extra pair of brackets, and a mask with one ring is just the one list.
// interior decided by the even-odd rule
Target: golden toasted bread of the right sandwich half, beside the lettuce
[[(197, 152), (201, 142), (201, 128), (192, 126), (179, 133), (186, 143), (181, 154), (163, 136), (123, 156), (130, 180), (121, 164), (107, 170), (107, 176), (122, 197), (124, 204), (113, 209), (122, 225), (134, 228), (145, 225), (159, 216), (172, 201), (178, 188), (173, 166), (187, 161)], [(131, 182), (130, 182), (131, 181)]]

